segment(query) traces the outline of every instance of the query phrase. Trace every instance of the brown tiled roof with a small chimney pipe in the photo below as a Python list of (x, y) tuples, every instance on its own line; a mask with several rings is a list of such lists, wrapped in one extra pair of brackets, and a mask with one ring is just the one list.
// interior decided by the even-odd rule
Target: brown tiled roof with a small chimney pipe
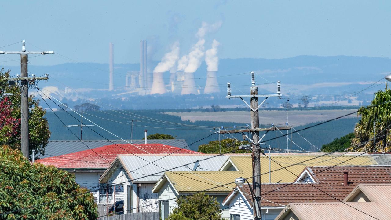
[[(315, 174), (317, 182), (313, 184), (314, 186), (341, 201), (358, 184), (391, 183), (391, 166), (308, 167), (307, 169)], [(343, 185), (344, 170), (348, 171), (348, 186)], [(280, 206), (278, 204), (286, 206), (290, 202), (338, 202), (314, 186), (307, 183), (262, 184), (262, 206)], [(244, 185), (241, 191), (251, 199), (248, 185)]]

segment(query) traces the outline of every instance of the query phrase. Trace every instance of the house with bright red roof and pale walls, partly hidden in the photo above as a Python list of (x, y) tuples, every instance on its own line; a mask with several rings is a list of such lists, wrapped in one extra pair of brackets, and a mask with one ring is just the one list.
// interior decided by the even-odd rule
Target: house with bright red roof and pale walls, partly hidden
[[(75, 173), (76, 182), (84, 188), (96, 188), (99, 178), (106, 171), (117, 155), (133, 154), (201, 154), (200, 152), (177, 148), (165, 144), (111, 144), (92, 150), (84, 150), (75, 153), (68, 153), (56, 157), (47, 157), (36, 160), (36, 162), (53, 165), (61, 170)], [(119, 193), (122, 188), (116, 189)], [(107, 194), (111, 194), (111, 188), (101, 187), (98, 191), (93, 191), (95, 201), (107, 203)]]

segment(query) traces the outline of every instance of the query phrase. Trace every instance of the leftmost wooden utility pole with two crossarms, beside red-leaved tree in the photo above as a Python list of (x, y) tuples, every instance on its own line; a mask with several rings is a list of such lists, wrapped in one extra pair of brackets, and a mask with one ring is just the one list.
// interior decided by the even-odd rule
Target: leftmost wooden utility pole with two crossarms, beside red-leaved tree
[(20, 94), (20, 150), (23, 156), (29, 159), (29, 83), (34, 84), (35, 80), (44, 79), (47, 80), (47, 74), (45, 77), (31, 78), (28, 76), (27, 63), (28, 54), (54, 54), (53, 51), (26, 51), (25, 41), (22, 41), (22, 51), (0, 51), (0, 54), (20, 54), (20, 75), (17, 74), (17, 78), (3, 79), (7, 81), (21, 81), (21, 94)]

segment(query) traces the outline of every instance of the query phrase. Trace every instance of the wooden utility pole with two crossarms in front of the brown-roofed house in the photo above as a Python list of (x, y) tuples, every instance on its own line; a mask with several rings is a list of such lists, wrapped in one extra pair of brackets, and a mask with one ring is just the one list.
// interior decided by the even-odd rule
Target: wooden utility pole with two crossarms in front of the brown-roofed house
[[(291, 127), (280, 127), (275, 126), (271, 128), (259, 128), (259, 107), (264, 104), (268, 97), (281, 97), (280, 81), (277, 81), (277, 94), (270, 95), (258, 95), (258, 87), (255, 86), (255, 75), (254, 71), (251, 72), (251, 87), (250, 95), (241, 95), (241, 96), (231, 96), (231, 83), (227, 83), (227, 96), (226, 98), (240, 98), (242, 101), (251, 109), (251, 128), (240, 129), (240, 130), (230, 130), (230, 131), (219, 131), (219, 133), (241, 133), (243, 136), (247, 135), (245, 132), (251, 132), (251, 157), (253, 159), (253, 191), (255, 192), (255, 202), (254, 204), (254, 220), (262, 220), (261, 212), (261, 161), (260, 161), (260, 142), (265, 137), (266, 133), (273, 130), (289, 130)], [(258, 104), (258, 97), (265, 97), (264, 101), (261, 104)], [(250, 98), (250, 105), (244, 101), (243, 98)], [(266, 132), (262, 137), (259, 136), (259, 132)]]

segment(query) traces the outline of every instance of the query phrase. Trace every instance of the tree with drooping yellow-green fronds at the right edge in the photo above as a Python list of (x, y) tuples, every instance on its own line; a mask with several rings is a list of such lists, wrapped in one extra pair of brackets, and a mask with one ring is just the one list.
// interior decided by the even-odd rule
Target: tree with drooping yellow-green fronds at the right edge
[[(391, 101), (391, 90), (386, 85), (384, 91), (375, 92), (375, 98), (371, 101), (370, 106), (359, 108), (357, 116), (361, 116), (361, 119), (354, 127), (355, 137), (352, 139), (352, 145), (348, 151), (391, 151), (391, 102), (387, 101)], [(374, 122), (375, 132), (373, 130)], [(376, 147), (373, 146), (373, 137), (376, 137)]]

